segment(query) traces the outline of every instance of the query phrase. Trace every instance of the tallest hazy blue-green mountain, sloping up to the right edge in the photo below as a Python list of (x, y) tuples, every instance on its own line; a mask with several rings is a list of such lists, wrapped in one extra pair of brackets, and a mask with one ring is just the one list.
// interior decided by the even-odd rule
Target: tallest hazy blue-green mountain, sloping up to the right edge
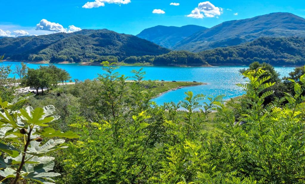
[(216, 47), (238, 45), (263, 36), (295, 35), (305, 36), (305, 19), (291, 13), (279, 12), (221, 23), (192, 34), (177, 43), (173, 49), (200, 52)]

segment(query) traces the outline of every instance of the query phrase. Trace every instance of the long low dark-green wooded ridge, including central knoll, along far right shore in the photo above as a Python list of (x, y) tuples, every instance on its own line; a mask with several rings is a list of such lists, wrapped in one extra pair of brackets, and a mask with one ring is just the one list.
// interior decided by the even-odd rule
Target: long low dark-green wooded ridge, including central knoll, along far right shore
[(127, 57), (126, 63), (150, 62), (154, 65), (249, 65), (266, 62), (273, 65), (304, 65), (305, 38), (262, 37), (238, 46), (219, 47), (199, 53), (172, 51), (159, 56)]

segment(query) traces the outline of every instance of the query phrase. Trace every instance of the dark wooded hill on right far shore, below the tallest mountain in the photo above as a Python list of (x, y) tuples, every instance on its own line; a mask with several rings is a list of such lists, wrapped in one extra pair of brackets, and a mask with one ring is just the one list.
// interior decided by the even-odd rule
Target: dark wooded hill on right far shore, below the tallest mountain
[(211, 65), (249, 65), (254, 61), (277, 66), (305, 64), (305, 38), (262, 37), (238, 46), (198, 53)]

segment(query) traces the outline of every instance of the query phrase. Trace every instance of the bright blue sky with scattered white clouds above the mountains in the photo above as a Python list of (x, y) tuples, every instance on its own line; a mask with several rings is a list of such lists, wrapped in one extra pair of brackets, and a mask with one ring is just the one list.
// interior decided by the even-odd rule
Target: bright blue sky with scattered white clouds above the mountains
[(108, 29), (136, 35), (157, 26), (213, 27), (272, 12), (305, 18), (305, 0), (2, 0), (0, 36)]

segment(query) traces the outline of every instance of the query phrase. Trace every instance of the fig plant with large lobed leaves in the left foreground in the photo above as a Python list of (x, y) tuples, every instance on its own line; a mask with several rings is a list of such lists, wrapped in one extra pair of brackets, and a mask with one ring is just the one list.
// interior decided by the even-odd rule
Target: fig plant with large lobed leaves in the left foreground
[[(54, 106), (43, 108), (26, 108), (12, 111), (11, 108), (28, 97), (17, 96), (13, 102), (4, 102), (0, 99), (0, 150), (2, 155), (0, 175), (2, 181), (13, 178), (12, 183), (21, 180), (30, 180), (38, 183), (52, 183), (52, 177), (59, 173), (49, 172), (54, 167), (54, 157), (45, 156), (46, 153), (57, 151), (65, 140), (50, 139), (41, 144), (45, 137), (78, 138), (73, 132), (62, 133), (47, 127), (59, 116), (51, 116), (55, 111)], [(40, 135), (39, 135), (40, 134)]]

